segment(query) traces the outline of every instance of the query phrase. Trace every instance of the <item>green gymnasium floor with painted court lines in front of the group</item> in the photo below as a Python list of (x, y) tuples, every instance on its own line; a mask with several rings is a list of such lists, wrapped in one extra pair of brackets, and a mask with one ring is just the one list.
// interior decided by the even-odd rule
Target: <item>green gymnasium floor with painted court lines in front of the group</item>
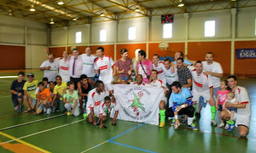
[[(37, 80), (43, 78), (42, 71), (27, 70), (26, 74), (28, 71), (33, 71)], [(10, 75), (17, 72), (0, 71), (1, 77)], [(237, 128), (227, 132), (210, 125), (208, 105), (196, 121), (199, 131), (187, 126), (174, 130), (170, 121), (158, 128), (120, 120), (113, 126), (108, 120), (107, 129), (100, 129), (87, 124), (82, 115), (16, 113), (9, 92), (13, 80), (0, 78), (0, 152), (256, 152), (256, 79), (238, 79), (251, 98), (252, 117), (246, 138), (239, 137)], [(216, 119), (220, 123), (218, 113)]]

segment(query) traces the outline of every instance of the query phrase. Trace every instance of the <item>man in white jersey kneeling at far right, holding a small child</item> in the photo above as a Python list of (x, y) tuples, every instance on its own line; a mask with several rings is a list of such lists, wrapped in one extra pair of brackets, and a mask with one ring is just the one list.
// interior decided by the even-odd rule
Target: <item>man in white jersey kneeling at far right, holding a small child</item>
[[(235, 92), (235, 98), (239, 104), (226, 103), (227, 108), (237, 108), (237, 113), (234, 114), (235, 124), (229, 124), (229, 131), (238, 128), (239, 135), (246, 137), (249, 132), (251, 103), (247, 90), (244, 87), (237, 86), (235, 75), (229, 75), (227, 78), (228, 87), (232, 92)], [(230, 119), (229, 111), (221, 111), (219, 114), (221, 120), (228, 121)]]

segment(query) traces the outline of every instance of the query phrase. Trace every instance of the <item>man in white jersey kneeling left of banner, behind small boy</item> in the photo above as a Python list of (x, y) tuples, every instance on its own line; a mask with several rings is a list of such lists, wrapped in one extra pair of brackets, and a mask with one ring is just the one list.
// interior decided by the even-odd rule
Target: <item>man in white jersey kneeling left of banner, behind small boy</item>
[(94, 125), (97, 124), (94, 118), (94, 114), (96, 116), (99, 115), (101, 101), (103, 101), (106, 96), (111, 96), (111, 101), (113, 103), (116, 101), (114, 95), (112, 95), (108, 90), (105, 90), (105, 85), (102, 81), (96, 81), (95, 87), (96, 88), (92, 89), (88, 93), (88, 105), (86, 105), (87, 114), (83, 115), (86, 117), (88, 123), (93, 123)]

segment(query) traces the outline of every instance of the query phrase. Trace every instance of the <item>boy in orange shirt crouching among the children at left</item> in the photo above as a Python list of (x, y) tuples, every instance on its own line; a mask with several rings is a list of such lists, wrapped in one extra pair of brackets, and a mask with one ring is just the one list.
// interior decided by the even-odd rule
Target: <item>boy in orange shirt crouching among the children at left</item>
[(46, 114), (51, 114), (52, 97), (49, 88), (44, 87), (44, 82), (38, 83), (39, 91), (37, 92), (37, 109), (36, 114), (39, 115), (46, 108)]

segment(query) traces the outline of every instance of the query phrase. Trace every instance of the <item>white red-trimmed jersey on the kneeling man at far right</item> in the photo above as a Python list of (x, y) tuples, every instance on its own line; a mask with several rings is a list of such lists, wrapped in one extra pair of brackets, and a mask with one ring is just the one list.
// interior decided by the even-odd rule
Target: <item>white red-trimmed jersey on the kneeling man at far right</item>
[(247, 90), (244, 87), (237, 86), (235, 98), (238, 100), (239, 104), (246, 104), (245, 108), (237, 108), (237, 114), (250, 116), (251, 104)]

